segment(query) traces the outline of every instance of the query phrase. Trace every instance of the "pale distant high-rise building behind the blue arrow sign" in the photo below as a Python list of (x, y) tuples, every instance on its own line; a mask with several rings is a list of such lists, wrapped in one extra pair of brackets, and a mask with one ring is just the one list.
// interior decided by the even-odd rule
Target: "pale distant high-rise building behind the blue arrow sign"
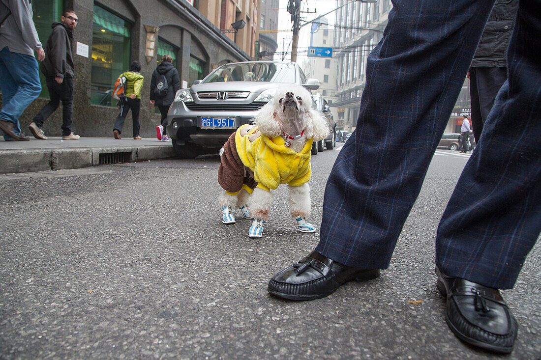
[[(334, 48), (334, 30), (329, 29), (328, 21), (321, 17), (314, 21), (310, 34), (310, 46), (322, 48)], [(313, 57), (309, 56), (303, 62), (306, 77), (318, 79), (320, 86), (314, 94), (321, 94), (331, 106), (337, 130), (342, 130), (343, 124), (338, 122), (338, 108), (334, 103), (338, 101), (337, 84), (335, 79), (338, 72), (338, 59), (336, 57)]]

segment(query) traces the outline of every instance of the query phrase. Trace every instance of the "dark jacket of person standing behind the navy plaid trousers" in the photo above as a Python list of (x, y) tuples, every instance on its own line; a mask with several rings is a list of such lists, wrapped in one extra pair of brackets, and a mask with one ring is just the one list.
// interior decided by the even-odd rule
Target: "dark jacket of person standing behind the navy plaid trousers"
[(518, 0), (496, 0), (473, 56), (472, 68), (479, 66), (507, 67), (507, 45), (514, 28), (517, 10)]

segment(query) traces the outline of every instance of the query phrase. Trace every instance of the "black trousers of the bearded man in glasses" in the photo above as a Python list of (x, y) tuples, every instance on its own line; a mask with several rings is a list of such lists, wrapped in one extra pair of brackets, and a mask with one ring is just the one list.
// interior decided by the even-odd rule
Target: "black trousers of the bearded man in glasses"
[(73, 78), (64, 77), (62, 84), (58, 84), (52, 77), (47, 78), (50, 101), (43, 106), (34, 117), (34, 122), (41, 129), (43, 122), (58, 108), (62, 101), (62, 136), (71, 134), (73, 115)]

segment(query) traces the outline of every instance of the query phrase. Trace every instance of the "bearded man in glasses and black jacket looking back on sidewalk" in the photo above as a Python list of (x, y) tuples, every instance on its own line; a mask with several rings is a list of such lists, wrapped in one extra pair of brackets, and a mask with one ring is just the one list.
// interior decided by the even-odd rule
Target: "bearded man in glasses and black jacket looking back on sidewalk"
[(45, 44), (47, 58), (41, 63), (41, 72), (45, 75), (50, 101), (34, 117), (28, 128), (36, 139), (46, 140), (41, 129), (43, 122), (55, 112), (62, 101), (62, 139), (78, 140), (80, 136), (71, 131), (73, 122), (73, 77), (74, 64), (71, 54), (73, 30), (79, 19), (74, 11), (68, 10), (60, 17), (61, 22), (51, 25), (52, 32)]

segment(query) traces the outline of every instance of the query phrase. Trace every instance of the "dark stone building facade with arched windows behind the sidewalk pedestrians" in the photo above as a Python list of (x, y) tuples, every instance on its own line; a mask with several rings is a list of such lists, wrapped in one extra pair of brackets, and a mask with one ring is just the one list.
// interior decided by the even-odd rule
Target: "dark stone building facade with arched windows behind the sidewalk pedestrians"
[[(141, 136), (153, 137), (160, 116), (149, 103), (150, 79), (161, 57), (173, 56), (183, 86), (221, 64), (251, 60), (259, 31), (259, 2), (221, 0), (221, 6), (216, 6), (211, 0), (43, 0), (32, 5), (43, 44), (50, 35), (51, 23), (60, 21), (64, 10), (74, 10), (79, 18), (72, 43), (74, 132), (81, 136), (112, 136), (118, 111), (110, 92), (130, 62), (140, 61), (144, 76)], [(244, 19), (246, 25), (238, 32), (223, 32), (232, 29), (232, 19)], [(43, 78), (42, 85), (41, 96), (19, 119), (23, 129), (28, 129), (32, 118), (48, 102)], [(60, 136), (61, 124), (59, 109), (45, 122), (43, 130), (48, 136)], [(128, 115), (123, 133), (129, 137), (131, 130)]]

